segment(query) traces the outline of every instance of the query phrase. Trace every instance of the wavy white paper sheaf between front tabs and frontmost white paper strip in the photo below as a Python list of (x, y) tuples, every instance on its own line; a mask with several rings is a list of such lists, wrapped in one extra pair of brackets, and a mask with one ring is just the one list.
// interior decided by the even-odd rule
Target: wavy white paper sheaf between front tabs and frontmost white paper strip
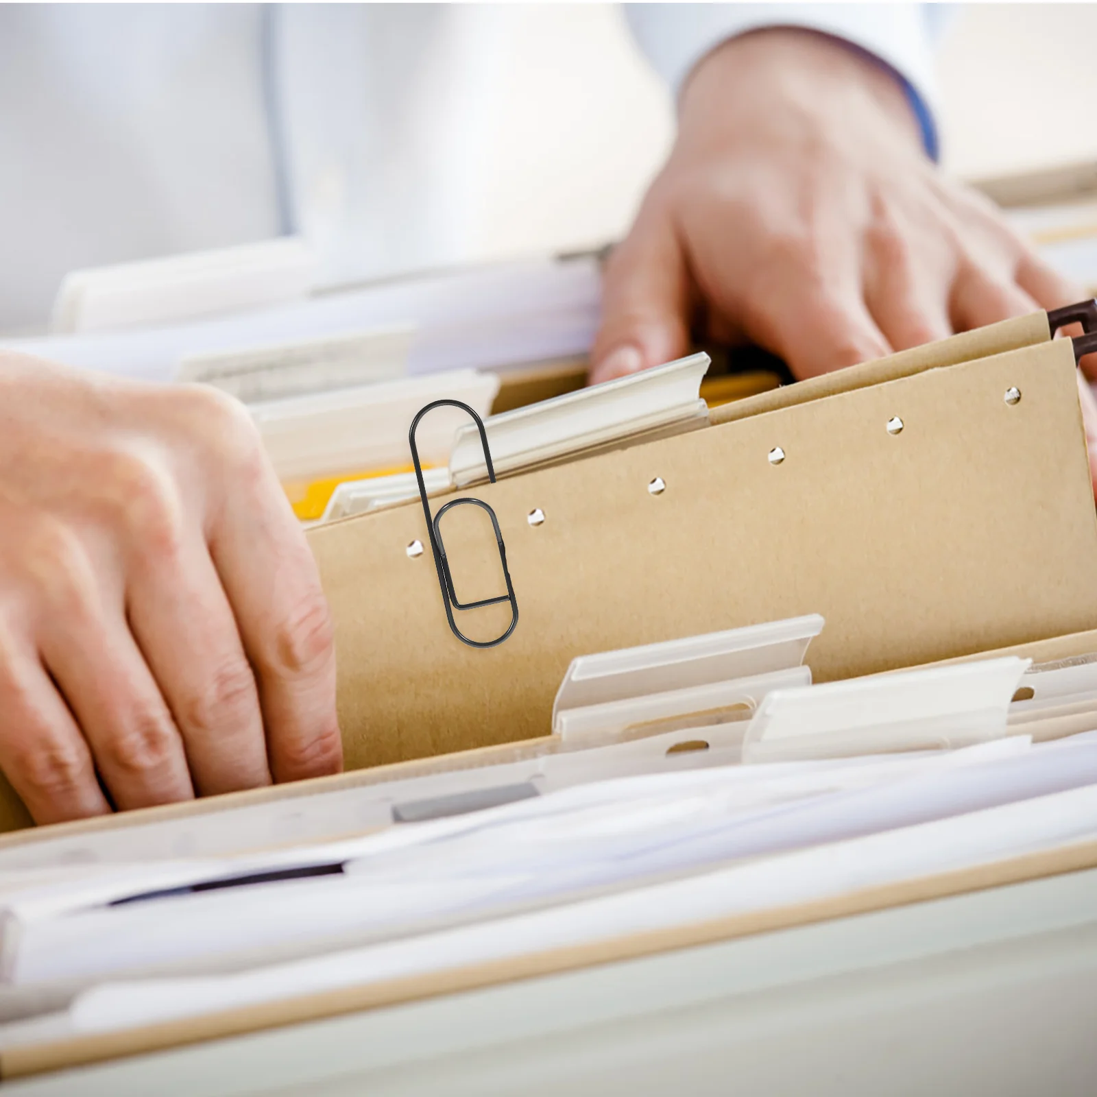
[[(1097, 744), (1029, 750), (1024, 739), (1009, 739), (760, 787), (743, 780), (744, 772), (751, 770), (586, 785), (312, 855), (342, 859), (342, 875), (113, 907), (88, 905), (95, 889), (83, 885), (83, 901), (71, 904), (76, 892), (69, 892), (67, 911), (57, 887), (9, 895), (4, 976), (16, 983), (102, 977), (249, 949), (323, 946), (351, 932), (398, 936), (439, 918), (559, 903), (591, 889), (635, 886), (660, 874), (1097, 784)], [(302, 852), (297, 862), (308, 863)], [(196, 879), (208, 875), (206, 868)], [(124, 893), (118, 885), (125, 883), (120, 879), (114, 892)]]

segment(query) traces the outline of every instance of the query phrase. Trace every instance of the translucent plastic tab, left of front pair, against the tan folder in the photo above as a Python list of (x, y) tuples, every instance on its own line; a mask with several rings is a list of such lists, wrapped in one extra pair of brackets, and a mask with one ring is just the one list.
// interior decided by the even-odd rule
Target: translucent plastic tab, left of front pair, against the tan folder
[[(815, 613), (579, 656), (556, 693), (553, 732), (565, 739), (600, 737), (612, 728), (722, 710), (740, 703), (739, 694), (753, 708), (768, 689), (810, 681), (810, 671), (749, 687), (734, 686), (736, 680), (801, 668), (823, 623)], [(716, 716), (713, 723), (723, 719)]]

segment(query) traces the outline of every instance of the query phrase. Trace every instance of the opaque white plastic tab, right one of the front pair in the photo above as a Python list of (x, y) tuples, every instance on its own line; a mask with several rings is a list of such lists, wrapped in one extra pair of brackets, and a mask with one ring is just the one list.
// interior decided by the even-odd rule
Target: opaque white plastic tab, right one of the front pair
[(743, 761), (791, 761), (961, 747), (1006, 733), (1030, 659), (905, 670), (766, 695)]

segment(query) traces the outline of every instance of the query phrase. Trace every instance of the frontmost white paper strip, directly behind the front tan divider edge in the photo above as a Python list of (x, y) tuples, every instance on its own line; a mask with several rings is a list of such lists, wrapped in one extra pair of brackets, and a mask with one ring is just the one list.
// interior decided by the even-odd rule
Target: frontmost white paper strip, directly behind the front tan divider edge
[[(59, 1032), (93, 1033), (214, 1010), (452, 971), (844, 895), (1097, 837), (1097, 787), (733, 864), (434, 934), (241, 974), (104, 983), (80, 994)], [(13, 1036), (26, 1039), (26, 1030)], [(0, 1044), (12, 1036), (0, 1030)]]

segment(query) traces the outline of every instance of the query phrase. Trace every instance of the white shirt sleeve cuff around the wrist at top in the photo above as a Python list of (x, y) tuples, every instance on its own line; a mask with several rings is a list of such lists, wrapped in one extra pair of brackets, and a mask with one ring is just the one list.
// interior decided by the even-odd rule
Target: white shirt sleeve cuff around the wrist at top
[(936, 20), (918, 3), (626, 4), (633, 35), (677, 95), (693, 66), (722, 42), (764, 26), (802, 26), (873, 54), (906, 80), (927, 109), (936, 99)]

